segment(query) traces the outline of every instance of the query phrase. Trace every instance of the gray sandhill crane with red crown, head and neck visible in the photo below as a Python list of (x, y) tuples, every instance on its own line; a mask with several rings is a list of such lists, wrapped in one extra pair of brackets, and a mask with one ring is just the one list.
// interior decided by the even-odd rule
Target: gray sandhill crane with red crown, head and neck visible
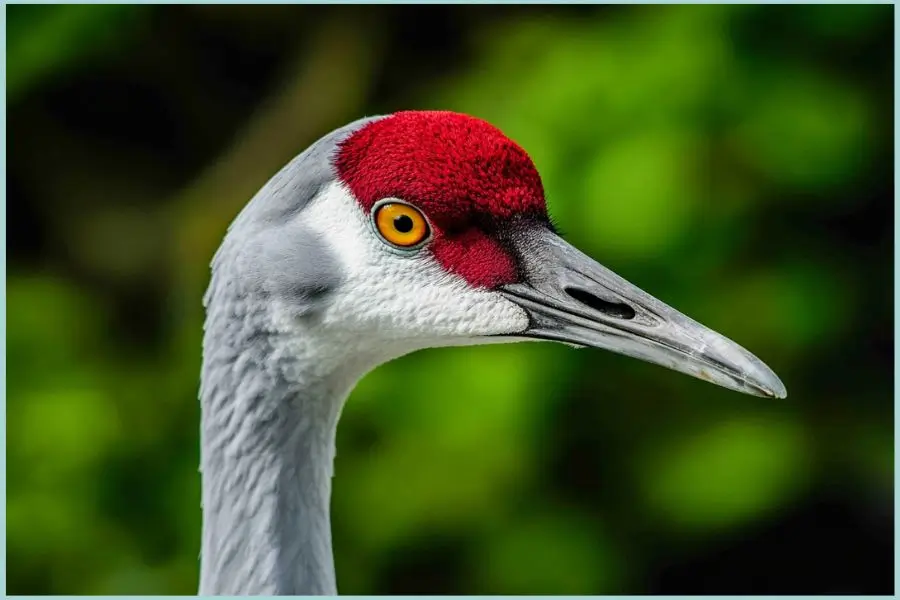
[(204, 304), (201, 594), (337, 593), (338, 419), (366, 372), (409, 352), (551, 340), (786, 395), (752, 354), (566, 243), (526, 152), (458, 113), (315, 142), (231, 224)]

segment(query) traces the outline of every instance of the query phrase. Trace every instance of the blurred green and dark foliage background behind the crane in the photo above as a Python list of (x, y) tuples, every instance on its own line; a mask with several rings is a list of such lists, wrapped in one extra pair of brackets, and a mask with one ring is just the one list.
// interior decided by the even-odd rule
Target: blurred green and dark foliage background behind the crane
[(892, 593), (893, 20), (10, 6), (8, 591), (196, 591), (212, 253), (319, 136), (443, 108), (789, 397), (551, 344), (393, 362), (339, 429), (341, 592)]

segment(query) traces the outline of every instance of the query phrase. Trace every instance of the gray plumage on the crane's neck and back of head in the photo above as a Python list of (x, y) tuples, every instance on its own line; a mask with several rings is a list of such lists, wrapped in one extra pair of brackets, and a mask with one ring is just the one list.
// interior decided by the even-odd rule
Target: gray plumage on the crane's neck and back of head
[(301, 211), (335, 179), (337, 144), (374, 118), (333, 131), (281, 169), (213, 259), (200, 389), (201, 594), (336, 593), (330, 465), (352, 382), (322, 379), (285, 351), (270, 306), (303, 316), (339, 285), (337, 261)]

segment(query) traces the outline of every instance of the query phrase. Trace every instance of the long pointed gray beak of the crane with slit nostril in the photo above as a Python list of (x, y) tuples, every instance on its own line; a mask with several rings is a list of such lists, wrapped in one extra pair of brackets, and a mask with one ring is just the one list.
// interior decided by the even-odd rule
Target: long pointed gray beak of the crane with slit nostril
[(725, 336), (625, 281), (544, 227), (510, 236), (525, 283), (500, 288), (531, 321), (516, 337), (603, 348), (739, 392), (784, 398), (772, 370)]

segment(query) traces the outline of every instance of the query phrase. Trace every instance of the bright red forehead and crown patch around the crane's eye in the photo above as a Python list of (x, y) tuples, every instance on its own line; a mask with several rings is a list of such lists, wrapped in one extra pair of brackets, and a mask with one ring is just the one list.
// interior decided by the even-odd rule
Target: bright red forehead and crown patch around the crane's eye
[(400, 198), (428, 216), (431, 251), (478, 287), (517, 280), (497, 236), (514, 216), (546, 220), (544, 189), (528, 154), (493, 125), (459, 113), (411, 111), (349, 136), (335, 157), (341, 180), (368, 211)]

